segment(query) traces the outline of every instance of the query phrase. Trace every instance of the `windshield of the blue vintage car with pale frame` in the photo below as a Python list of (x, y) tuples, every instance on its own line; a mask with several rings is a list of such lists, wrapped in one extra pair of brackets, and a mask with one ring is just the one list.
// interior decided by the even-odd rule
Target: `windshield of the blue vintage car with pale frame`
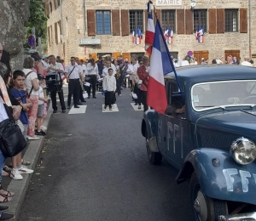
[(256, 81), (202, 82), (191, 88), (195, 111), (206, 111), (227, 106), (256, 105)]

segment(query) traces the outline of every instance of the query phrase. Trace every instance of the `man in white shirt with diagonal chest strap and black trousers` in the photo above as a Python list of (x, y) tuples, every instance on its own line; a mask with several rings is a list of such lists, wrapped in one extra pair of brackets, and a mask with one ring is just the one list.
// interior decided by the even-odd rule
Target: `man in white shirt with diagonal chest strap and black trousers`
[(67, 109), (70, 109), (71, 97), (73, 96), (74, 108), (79, 108), (79, 92), (81, 89), (80, 77), (82, 76), (82, 66), (76, 63), (75, 57), (70, 59), (71, 65), (67, 65), (65, 75), (68, 82)]

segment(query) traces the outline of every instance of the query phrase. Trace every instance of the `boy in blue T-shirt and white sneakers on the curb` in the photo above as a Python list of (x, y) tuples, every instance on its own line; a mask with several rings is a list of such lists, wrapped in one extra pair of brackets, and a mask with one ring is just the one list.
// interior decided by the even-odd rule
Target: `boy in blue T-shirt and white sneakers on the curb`
[[(10, 93), (20, 102), (22, 106), (22, 111), (20, 113), (20, 122), (24, 126), (23, 136), (26, 139), (27, 127), (28, 127), (28, 117), (27, 111), (32, 107), (32, 103), (27, 99), (25, 86), (25, 74), (23, 71), (15, 71), (13, 74), (13, 84), (14, 87), (10, 89)], [(28, 169), (21, 165), (21, 152), (12, 157), (13, 169), (10, 173), (10, 177), (14, 179), (23, 179), (20, 173), (33, 173), (33, 170)]]

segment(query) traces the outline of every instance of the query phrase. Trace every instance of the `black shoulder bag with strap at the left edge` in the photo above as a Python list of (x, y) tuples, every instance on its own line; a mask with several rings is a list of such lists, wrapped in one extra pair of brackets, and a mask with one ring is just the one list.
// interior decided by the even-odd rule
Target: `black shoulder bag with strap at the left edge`
[[(3, 93), (0, 89), (0, 95), (3, 99)], [(5, 104), (3, 99), (3, 105), (9, 116), (8, 105)], [(16, 125), (13, 116), (3, 122), (0, 122), (0, 149), (5, 157), (12, 157), (19, 154), (26, 148), (26, 139), (20, 131), (20, 127)]]

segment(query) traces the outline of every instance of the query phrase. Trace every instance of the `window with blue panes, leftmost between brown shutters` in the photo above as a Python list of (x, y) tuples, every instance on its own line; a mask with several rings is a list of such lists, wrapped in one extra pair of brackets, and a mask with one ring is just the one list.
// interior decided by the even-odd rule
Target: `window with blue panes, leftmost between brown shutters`
[(110, 11), (96, 11), (96, 34), (111, 34)]

